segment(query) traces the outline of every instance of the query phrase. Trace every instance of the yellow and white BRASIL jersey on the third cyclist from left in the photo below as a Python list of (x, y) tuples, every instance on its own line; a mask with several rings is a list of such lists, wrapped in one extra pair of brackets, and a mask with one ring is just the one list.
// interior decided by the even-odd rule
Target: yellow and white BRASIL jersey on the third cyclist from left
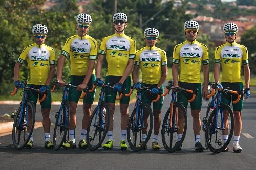
[(104, 37), (100, 44), (99, 54), (106, 56), (108, 62), (106, 75), (123, 76), (129, 59), (134, 60), (135, 52), (135, 40), (124, 33)]

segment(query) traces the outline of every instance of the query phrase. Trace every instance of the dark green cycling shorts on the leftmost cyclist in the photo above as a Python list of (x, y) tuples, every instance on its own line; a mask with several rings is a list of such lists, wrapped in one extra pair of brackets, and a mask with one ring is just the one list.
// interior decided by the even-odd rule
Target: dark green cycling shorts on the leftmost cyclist
[[(35, 89), (40, 89), (44, 85), (35, 85), (35, 84), (28, 84), (28, 87), (35, 88)], [(39, 99), (42, 98), (42, 94), (39, 94), (37, 91), (34, 90), (29, 90), (28, 91), (28, 100), (33, 103), (33, 105), (36, 108), (36, 102)], [(46, 99), (42, 102), (40, 102), (41, 109), (51, 109), (52, 106), (52, 95), (51, 95), (51, 90), (50, 86), (47, 86), (47, 94), (46, 94)]]

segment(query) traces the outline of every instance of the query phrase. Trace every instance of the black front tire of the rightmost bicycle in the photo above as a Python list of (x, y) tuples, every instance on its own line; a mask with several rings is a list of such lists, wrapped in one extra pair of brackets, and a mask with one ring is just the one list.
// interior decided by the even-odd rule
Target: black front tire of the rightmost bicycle
[[(223, 139), (222, 130), (215, 128), (215, 120), (216, 120), (216, 108), (215, 108), (210, 114), (210, 117), (207, 122), (206, 131), (205, 131), (207, 145), (208, 145), (209, 149), (211, 150), (211, 152), (214, 152), (214, 153), (219, 153), (219, 152), (222, 152), (223, 150), (225, 150), (225, 148), (228, 146), (228, 144), (232, 138), (233, 130), (234, 130), (234, 116), (233, 116), (233, 111), (231, 110), (230, 106), (228, 106), (227, 104), (224, 104), (224, 103), (220, 103), (219, 109), (218, 109), (218, 114), (219, 114), (220, 109), (228, 111), (228, 121), (227, 122), (228, 122), (228, 127), (229, 127), (228, 130), (230, 130), (230, 131), (228, 133), (228, 138), (227, 138), (226, 143), (222, 142), (222, 139)], [(221, 123), (222, 123), (220, 117), (221, 116), (218, 115), (218, 123), (217, 124), (219, 127), (221, 127)], [(231, 124), (231, 125), (229, 125), (229, 124)], [(218, 132), (220, 132), (220, 133), (218, 133)]]

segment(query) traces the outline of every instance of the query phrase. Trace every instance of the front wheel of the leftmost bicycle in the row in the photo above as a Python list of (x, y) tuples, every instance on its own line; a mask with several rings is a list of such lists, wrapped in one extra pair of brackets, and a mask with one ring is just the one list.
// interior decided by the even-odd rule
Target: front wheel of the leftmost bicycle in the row
[[(35, 125), (35, 107), (30, 102), (20, 106), (14, 118), (12, 127), (12, 141), (16, 149), (22, 149), (28, 143)], [(28, 133), (29, 132), (29, 133)]]

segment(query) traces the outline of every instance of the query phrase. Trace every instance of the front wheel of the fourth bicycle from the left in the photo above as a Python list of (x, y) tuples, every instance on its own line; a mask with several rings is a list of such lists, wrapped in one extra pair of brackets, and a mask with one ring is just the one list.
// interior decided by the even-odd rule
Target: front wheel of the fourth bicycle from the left
[[(150, 140), (150, 136), (153, 129), (153, 113), (151, 107), (148, 104), (142, 102), (139, 104), (138, 110), (139, 113), (137, 114), (137, 108), (134, 108), (127, 127), (127, 140), (130, 145), (130, 148), (133, 151), (140, 151), (146, 147), (148, 140)], [(138, 126), (135, 126), (137, 115)], [(148, 117), (147, 121), (146, 117)], [(141, 120), (143, 120), (143, 123), (141, 122)], [(142, 142), (143, 134), (146, 135), (144, 142)]]

